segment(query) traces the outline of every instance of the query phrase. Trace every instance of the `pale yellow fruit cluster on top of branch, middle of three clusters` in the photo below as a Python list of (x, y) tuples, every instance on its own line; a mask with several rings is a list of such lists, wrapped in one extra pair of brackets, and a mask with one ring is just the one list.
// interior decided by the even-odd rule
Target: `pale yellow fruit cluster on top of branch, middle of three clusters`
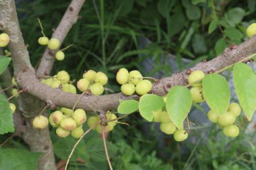
[(79, 91), (101, 95), (104, 92), (104, 85), (108, 82), (108, 77), (102, 72), (93, 70), (86, 71), (82, 79), (77, 81)]

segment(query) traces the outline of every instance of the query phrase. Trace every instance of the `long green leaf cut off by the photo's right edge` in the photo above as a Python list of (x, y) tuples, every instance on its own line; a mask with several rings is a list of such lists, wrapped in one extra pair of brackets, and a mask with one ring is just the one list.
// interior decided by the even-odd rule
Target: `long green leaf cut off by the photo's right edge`
[(251, 67), (241, 62), (234, 65), (233, 74), (234, 89), (238, 101), (247, 119), (251, 121), (256, 109), (256, 75)]

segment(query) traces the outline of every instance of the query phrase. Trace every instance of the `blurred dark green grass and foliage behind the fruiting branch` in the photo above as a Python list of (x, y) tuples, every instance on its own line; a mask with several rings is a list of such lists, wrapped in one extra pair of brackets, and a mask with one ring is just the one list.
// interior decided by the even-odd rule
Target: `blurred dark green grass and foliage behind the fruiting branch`
[[(36, 18), (51, 37), (70, 1), (16, 3), (30, 60), (37, 67), (45, 48), (37, 43), (41, 34)], [(255, 5), (255, 0), (87, 0), (79, 13), (81, 19), (62, 46), (73, 47), (65, 51), (65, 60), (55, 62), (52, 75), (66, 70), (72, 79), (79, 79), (88, 69), (103, 71), (109, 77), (106, 87), (114, 92), (119, 91), (115, 73), (122, 67), (138, 69), (145, 76), (158, 72), (172, 75), (218, 56), (230, 43), (245, 41), (245, 28), (255, 22)], [(175, 56), (174, 63), (170, 63), (170, 54)], [(145, 65), (148, 60), (152, 61), (150, 66)], [(122, 121), (129, 126), (119, 124), (108, 134), (114, 169), (256, 169), (256, 142), (252, 132), (245, 134), (248, 122), (243, 116), (237, 121), (241, 134), (235, 139), (224, 137), (220, 128), (205, 120), (207, 124), (195, 124), (190, 139), (181, 143), (162, 134), (159, 124), (148, 123), (138, 114)], [(58, 138), (54, 130), (51, 137), (61, 166), (75, 140)], [(7, 146), (26, 148), (15, 138)], [(96, 132), (79, 144), (69, 169), (108, 169)]]

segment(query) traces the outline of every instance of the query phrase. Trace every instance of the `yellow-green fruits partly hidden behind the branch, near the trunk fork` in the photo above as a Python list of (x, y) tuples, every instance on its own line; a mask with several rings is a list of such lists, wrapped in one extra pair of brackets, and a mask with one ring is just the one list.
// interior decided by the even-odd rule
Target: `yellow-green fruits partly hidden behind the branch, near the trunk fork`
[(62, 89), (67, 93), (76, 93), (76, 88), (70, 83), (69, 73), (66, 71), (59, 71), (57, 75), (49, 79), (42, 79), (41, 82), (50, 87)]

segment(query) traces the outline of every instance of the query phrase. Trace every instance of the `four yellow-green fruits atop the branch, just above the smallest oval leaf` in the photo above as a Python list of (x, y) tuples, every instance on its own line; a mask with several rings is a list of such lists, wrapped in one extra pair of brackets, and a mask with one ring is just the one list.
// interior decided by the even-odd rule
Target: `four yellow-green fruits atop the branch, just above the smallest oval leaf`
[(127, 71), (122, 68), (117, 72), (117, 82), (121, 85), (121, 91), (125, 95), (132, 95), (133, 93), (144, 95), (152, 89), (152, 83), (148, 80), (143, 80), (139, 71)]

